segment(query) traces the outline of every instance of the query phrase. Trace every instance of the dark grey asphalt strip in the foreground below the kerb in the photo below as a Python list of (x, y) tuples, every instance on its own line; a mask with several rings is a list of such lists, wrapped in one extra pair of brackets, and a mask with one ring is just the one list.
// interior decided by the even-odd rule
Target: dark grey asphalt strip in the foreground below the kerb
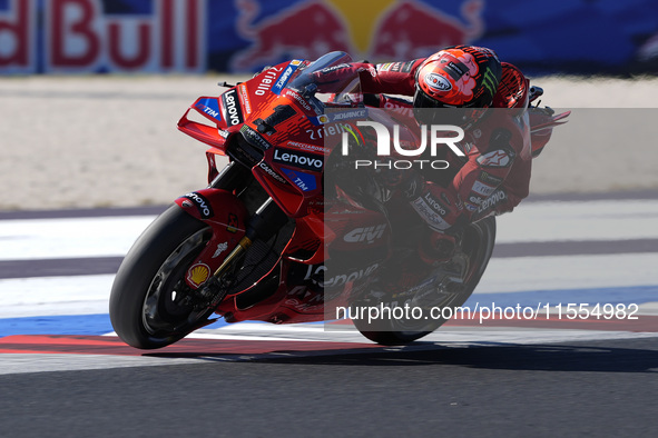
[(657, 340), (0, 377), (3, 436), (655, 436)]

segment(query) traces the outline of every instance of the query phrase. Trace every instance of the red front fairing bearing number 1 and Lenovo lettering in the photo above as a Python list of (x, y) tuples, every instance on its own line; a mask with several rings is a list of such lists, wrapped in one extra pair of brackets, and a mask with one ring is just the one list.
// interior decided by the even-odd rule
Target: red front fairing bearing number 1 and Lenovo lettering
[[(240, 135), (263, 152), (263, 160), (253, 166), (254, 176), (291, 217), (307, 216), (310, 205), (322, 197), (324, 165), (333, 149), (326, 140), (337, 145), (344, 131), (324, 121), (330, 97), (321, 94), (318, 72), (350, 61), (343, 52), (314, 62), (293, 60), (271, 69), (276, 77), (267, 70), (244, 84), (252, 113)], [(346, 89), (360, 89), (357, 74), (346, 74), (334, 87), (338, 98)], [(341, 104), (346, 103), (331, 103)]]

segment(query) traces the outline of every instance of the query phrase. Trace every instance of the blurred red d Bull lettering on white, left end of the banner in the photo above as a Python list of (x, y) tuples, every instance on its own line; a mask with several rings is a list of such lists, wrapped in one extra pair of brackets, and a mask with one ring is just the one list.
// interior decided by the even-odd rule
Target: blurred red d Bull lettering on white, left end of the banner
[(135, 3), (136, 11), (109, 13), (108, 3), (1, 2), (0, 71), (205, 70), (206, 0), (159, 0), (140, 3), (143, 10)]

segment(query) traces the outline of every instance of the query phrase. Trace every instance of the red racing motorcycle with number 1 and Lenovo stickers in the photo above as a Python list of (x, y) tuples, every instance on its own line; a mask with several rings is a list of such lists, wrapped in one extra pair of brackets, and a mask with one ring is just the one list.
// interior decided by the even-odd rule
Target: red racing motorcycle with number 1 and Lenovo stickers
[[(343, 52), (284, 62), (224, 84), (183, 116), (178, 129), (209, 146), (209, 186), (176, 199), (124, 259), (109, 311), (125, 342), (165, 347), (219, 317), (351, 317), (366, 338), (400, 345), (445, 322), (430, 309), (461, 306), (473, 292), (493, 251), (493, 217), (464, 227), (450, 260), (419, 260), (426, 226), (409, 202), (382, 199), (367, 172), (344, 171), (353, 161), (338, 151), (341, 140), (356, 138), (354, 120), (399, 123), (390, 112), (369, 113), (377, 109), (363, 104), (357, 76), (331, 96), (318, 92), (314, 73), (345, 62)], [(564, 117), (540, 113), (539, 135)], [(402, 136), (418, 140), (411, 130)], [(359, 315), (403, 306), (420, 313)]]

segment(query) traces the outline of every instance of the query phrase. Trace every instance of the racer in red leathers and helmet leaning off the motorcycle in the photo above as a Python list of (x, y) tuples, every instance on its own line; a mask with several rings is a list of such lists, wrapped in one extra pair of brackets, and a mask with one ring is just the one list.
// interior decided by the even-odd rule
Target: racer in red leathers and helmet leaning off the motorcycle
[[(411, 61), (345, 63), (318, 77), (321, 83), (330, 84), (347, 72), (359, 73), (367, 106), (409, 109), (419, 125), (455, 125), (465, 131), (460, 142), (465, 160), (456, 162), (459, 171), (448, 183), (438, 183), (422, 171), (389, 178), (394, 181), (389, 186), (400, 189), (434, 231), (423, 239), (425, 261), (449, 259), (453, 235), (462, 225), (512, 211), (528, 196), (529, 81), (493, 50), (456, 46)], [(413, 101), (387, 94), (413, 97)]]

